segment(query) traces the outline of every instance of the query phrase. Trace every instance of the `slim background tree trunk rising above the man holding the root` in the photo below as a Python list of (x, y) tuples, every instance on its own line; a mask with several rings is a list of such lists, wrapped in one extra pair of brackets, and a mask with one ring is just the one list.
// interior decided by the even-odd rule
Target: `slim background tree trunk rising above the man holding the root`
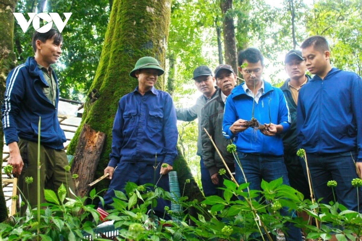
[(220, 0), (220, 8), (223, 14), (225, 63), (231, 65), (237, 73), (235, 26), (231, 14), (232, 0)]

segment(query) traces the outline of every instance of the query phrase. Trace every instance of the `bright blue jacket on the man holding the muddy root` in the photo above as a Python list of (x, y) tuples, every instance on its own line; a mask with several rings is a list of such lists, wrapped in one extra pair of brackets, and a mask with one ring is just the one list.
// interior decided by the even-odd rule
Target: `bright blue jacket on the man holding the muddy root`
[[(233, 135), (230, 126), (237, 120), (250, 120), (254, 98), (248, 96), (243, 89), (245, 83), (236, 86), (226, 99), (223, 134), (226, 138), (235, 138), (236, 151), (264, 155), (283, 155), (283, 140), (280, 134), (268, 137), (259, 130), (248, 128)], [(270, 104), (269, 104), (270, 100)], [(269, 108), (270, 117), (269, 119)], [(285, 133), (290, 126), (290, 114), (283, 92), (264, 81), (264, 93), (258, 104), (254, 104), (254, 118), (261, 124), (273, 123), (283, 126)]]

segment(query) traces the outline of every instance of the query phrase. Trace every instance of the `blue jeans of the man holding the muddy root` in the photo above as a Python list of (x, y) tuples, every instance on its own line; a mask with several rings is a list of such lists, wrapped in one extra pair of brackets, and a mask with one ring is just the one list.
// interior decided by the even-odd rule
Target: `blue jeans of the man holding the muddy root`
[[(261, 190), (261, 181), (264, 179), (267, 182), (273, 181), (280, 177), (283, 178), (283, 184), (289, 185), (288, 172), (285, 167), (283, 156), (272, 155), (259, 155), (250, 153), (237, 154), (241, 167), (243, 167), (245, 177), (250, 183), (251, 190)], [(235, 161), (235, 179), (237, 183), (245, 183), (243, 173), (237, 161)], [(280, 211), (283, 216), (296, 217), (295, 212), (289, 212), (287, 207), (283, 207)], [(285, 223), (286, 227), (286, 240), (287, 241), (301, 241), (302, 233), (300, 228), (294, 226), (290, 222)]]

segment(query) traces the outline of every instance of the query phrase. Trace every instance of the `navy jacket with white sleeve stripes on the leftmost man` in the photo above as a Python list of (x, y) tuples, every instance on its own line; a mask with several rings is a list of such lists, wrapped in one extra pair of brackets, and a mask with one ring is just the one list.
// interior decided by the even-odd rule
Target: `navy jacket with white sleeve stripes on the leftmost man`
[(28, 57), (25, 64), (17, 66), (9, 73), (6, 79), (4, 104), (1, 107), (7, 145), (18, 142), (19, 138), (37, 142), (40, 116), (42, 145), (58, 150), (64, 148), (63, 143), (67, 139), (64, 131), (60, 129), (57, 117), (58, 79), (54, 70), (51, 74), (56, 83), (55, 106), (43, 92), (43, 88), (50, 86), (34, 57)]

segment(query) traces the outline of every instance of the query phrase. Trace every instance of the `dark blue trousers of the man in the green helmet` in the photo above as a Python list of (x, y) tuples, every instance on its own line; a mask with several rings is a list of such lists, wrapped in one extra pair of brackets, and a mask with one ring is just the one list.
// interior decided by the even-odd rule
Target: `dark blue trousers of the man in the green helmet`
[[(143, 185), (146, 183), (151, 183), (155, 185), (155, 183), (153, 183), (153, 175), (154, 173), (156, 173), (157, 181), (160, 177), (160, 168), (161, 163), (158, 164), (156, 170), (153, 168), (152, 164), (123, 162), (118, 163), (117, 168), (114, 170), (111, 183), (108, 187), (108, 191), (103, 197), (105, 208), (113, 208), (109, 205), (113, 203), (113, 198), (115, 197), (114, 190), (126, 193), (125, 186), (127, 182), (134, 182), (137, 185)], [(168, 175), (162, 175), (159, 182), (157, 183), (157, 186), (165, 191), (170, 191)], [(165, 206), (168, 206), (171, 210), (171, 201), (159, 198), (157, 199), (157, 206), (153, 207), (153, 211), (159, 218), (171, 220), (171, 216), (164, 210)], [(99, 203), (99, 207), (102, 207), (101, 203)]]

